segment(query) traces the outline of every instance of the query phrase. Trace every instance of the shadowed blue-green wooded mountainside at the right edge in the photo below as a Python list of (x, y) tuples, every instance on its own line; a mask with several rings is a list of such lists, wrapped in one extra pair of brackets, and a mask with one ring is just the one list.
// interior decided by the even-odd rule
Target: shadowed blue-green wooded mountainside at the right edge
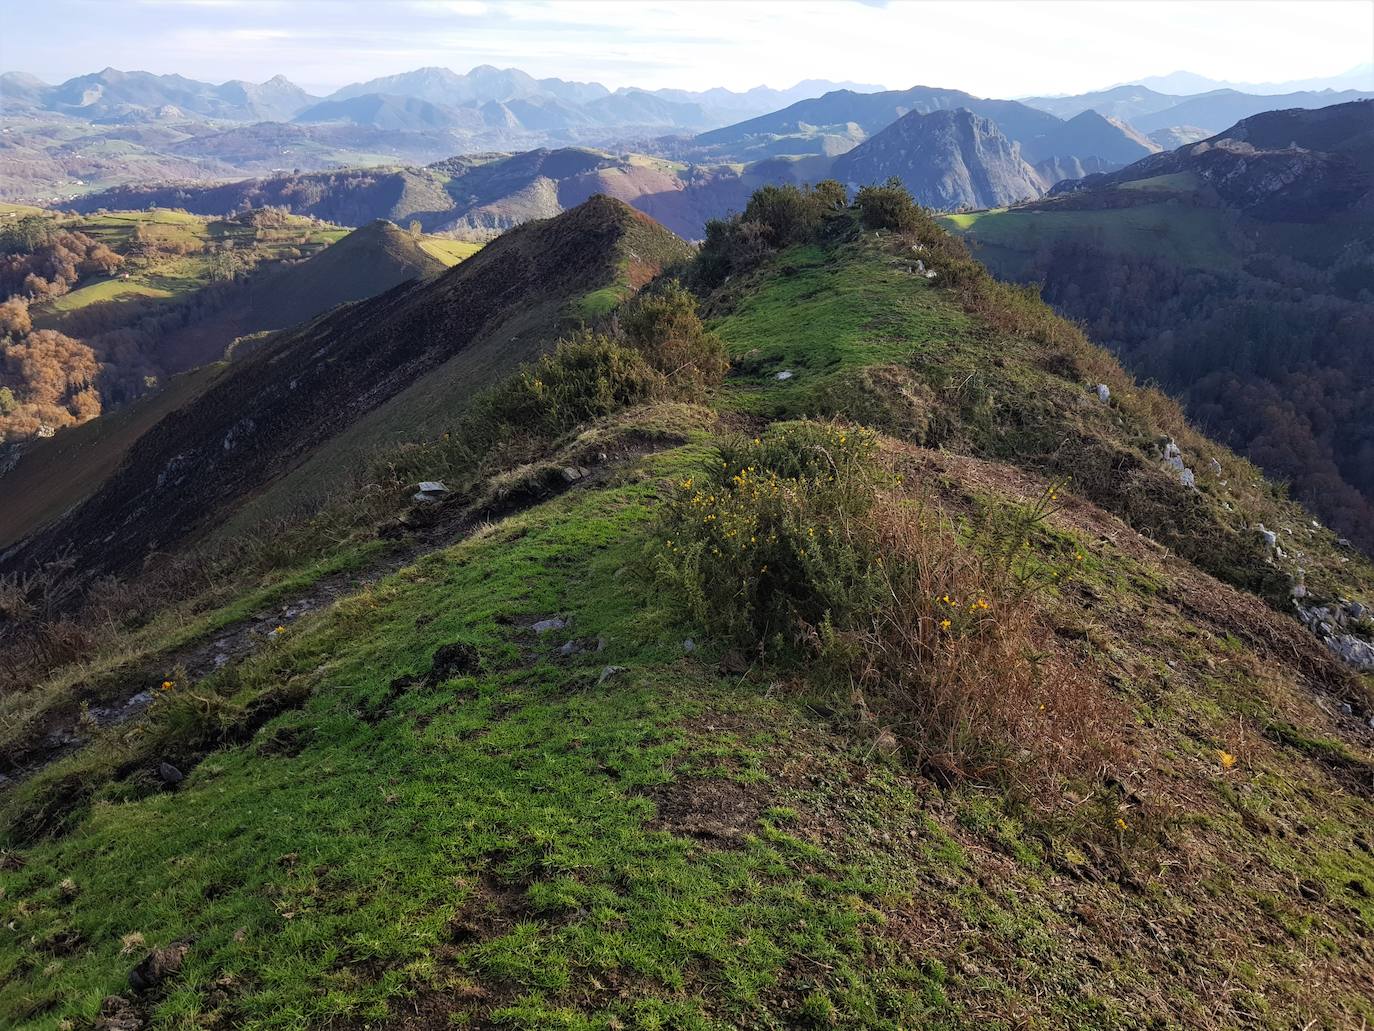
[(1374, 548), (1374, 104), (1270, 111), (952, 224)]

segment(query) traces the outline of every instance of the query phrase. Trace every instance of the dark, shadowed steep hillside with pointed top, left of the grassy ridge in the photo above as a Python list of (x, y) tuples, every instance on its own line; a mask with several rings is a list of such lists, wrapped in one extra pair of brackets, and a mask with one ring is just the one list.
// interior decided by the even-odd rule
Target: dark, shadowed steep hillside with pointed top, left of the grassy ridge
[[(135, 568), (148, 550), (214, 525), (436, 370), (462, 384), (447, 399), (449, 412), (460, 408), (463, 395), (545, 346), (577, 298), (632, 289), (683, 253), (666, 231), (606, 198), (526, 224), (434, 280), (335, 311), (235, 363), (144, 433), (92, 498), (0, 561), (32, 569), (76, 548), (82, 577)], [(445, 368), (453, 359), (460, 367)], [(418, 415), (407, 419), (416, 430)], [(334, 483), (348, 473), (337, 465)], [(118, 529), (96, 550), (99, 526)]]

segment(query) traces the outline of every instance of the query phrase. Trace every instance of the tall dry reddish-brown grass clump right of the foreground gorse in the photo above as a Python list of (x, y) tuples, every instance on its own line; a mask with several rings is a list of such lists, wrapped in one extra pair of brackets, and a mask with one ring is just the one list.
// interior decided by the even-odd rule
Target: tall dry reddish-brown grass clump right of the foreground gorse
[(860, 719), (932, 777), (1046, 795), (1120, 759), (1120, 704), (1055, 643), (1039, 581), (932, 505), (872, 511), (883, 603), (838, 635)]

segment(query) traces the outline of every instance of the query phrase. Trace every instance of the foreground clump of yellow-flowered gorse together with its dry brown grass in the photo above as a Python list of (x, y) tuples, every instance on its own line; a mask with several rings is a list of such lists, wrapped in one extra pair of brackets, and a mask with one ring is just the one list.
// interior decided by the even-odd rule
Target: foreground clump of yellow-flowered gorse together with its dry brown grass
[(1040, 547), (1061, 489), (956, 525), (900, 492), (871, 433), (779, 423), (677, 484), (657, 581), (731, 646), (809, 661), (933, 775), (1036, 792), (1113, 752), (1106, 694), (1052, 645), (1047, 599), (1083, 561)]

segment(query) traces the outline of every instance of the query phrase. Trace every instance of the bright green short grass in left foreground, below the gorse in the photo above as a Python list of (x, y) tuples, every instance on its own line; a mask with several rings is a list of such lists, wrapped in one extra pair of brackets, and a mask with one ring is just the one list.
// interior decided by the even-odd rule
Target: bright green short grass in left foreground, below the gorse
[[(761, 808), (738, 850), (649, 825), (646, 793), (677, 775), (747, 796), (768, 779), (760, 741), (786, 742), (796, 716), (677, 661), (679, 638), (617, 590), (614, 546), (638, 535), (646, 500), (640, 485), (551, 506), (293, 627), (243, 678), (311, 683), (305, 709), (262, 738), (305, 733), (304, 749), (216, 753), (176, 796), (115, 786), (78, 833), (29, 851), (4, 874), (5, 902), (25, 914), (22, 938), (0, 939), (0, 1013), (41, 1012), (40, 1027), (92, 1016), (121, 988), (120, 936), (137, 932), (196, 938), (158, 1009), (166, 1023), (203, 1016), (223, 977), (239, 986), (235, 1021), (257, 1027), (382, 1017), (416, 980), (478, 979), (511, 986), (497, 1005), (515, 1027), (602, 1027), (596, 1010), (708, 1027), (794, 991), (785, 964), (797, 955), (833, 972), (831, 1005), (864, 1026), (921, 1019), (926, 977), (894, 943), (885, 972), (864, 969), (890, 872), (844, 869)], [(566, 576), (545, 575), (556, 568)], [(550, 639), (526, 658), (532, 645), (504, 620), (555, 612), (606, 652), (561, 667)], [(392, 678), (453, 639), (475, 643), (488, 672), (367, 715)], [(598, 687), (609, 663), (631, 668)], [(683, 727), (716, 709), (761, 712), (763, 738), (697, 741)], [(80, 888), (70, 900), (66, 877)], [(455, 921), (497, 933), (445, 971)], [(89, 949), (56, 969), (21, 944), (70, 932)], [(589, 979), (631, 991), (577, 1016)], [(705, 983), (714, 1020), (695, 998)]]

